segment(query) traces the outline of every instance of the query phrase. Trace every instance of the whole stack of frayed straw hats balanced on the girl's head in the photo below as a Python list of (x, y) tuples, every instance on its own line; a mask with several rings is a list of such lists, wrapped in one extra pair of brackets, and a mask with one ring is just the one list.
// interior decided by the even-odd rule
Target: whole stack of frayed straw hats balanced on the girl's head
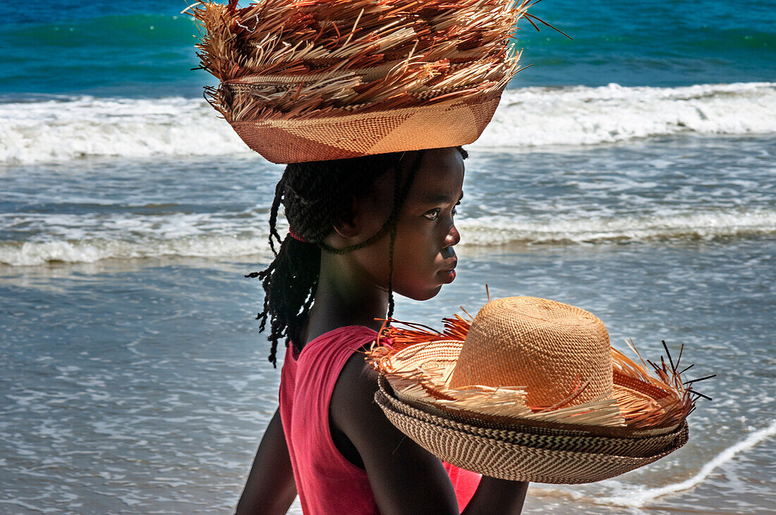
[(220, 81), (206, 88), (210, 103), (251, 149), (298, 163), (475, 141), (518, 71), (509, 40), (518, 19), (537, 19), (528, 6), (262, 0), (239, 9), (230, 0), (190, 9), (200, 67)]

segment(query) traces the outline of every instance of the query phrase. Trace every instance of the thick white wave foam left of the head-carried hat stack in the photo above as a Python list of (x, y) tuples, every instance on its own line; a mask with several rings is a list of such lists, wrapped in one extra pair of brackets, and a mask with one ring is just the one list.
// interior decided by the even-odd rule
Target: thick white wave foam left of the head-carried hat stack
[(249, 152), (205, 101), (92, 98), (0, 104), (0, 163)]

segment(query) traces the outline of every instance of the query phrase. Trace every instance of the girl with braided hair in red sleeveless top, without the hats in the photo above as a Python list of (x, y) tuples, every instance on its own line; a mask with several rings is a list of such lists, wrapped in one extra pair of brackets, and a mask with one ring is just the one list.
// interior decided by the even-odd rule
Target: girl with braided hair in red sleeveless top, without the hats
[[(286, 167), (275, 190), (265, 289), (270, 361), (287, 345), (279, 410), (238, 513), (519, 513), (528, 483), (442, 463), (383, 415), (358, 351), (393, 314), (393, 292), (435, 297), (456, 277), (460, 147)], [(289, 235), (275, 228), (279, 204)]]

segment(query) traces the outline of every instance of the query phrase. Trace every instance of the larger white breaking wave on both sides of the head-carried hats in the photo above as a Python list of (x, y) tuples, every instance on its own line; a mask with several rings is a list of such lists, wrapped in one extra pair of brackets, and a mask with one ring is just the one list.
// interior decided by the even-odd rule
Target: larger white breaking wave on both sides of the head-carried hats
[[(521, 88), (504, 93), (493, 122), (472, 147), (770, 132), (776, 132), (776, 83)], [(0, 163), (249, 152), (201, 100), (78, 97), (0, 104)]]

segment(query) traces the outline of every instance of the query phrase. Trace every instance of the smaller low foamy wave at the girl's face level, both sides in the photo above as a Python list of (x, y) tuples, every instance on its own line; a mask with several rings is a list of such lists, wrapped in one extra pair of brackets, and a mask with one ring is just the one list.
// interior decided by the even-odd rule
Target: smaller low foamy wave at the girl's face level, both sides
[[(34, 217), (33, 217), (34, 218)], [(32, 227), (33, 218), (30, 223)], [(62, 218), (61, 216), (59, 218)], [(57, 219), (59, 219), (57, 218)], [(137, 218), (83, 219), (78, 225), (50, 225), (54, 235), (30, 241), (0, 242), (0, 263), (39, 266), (46, 263), (94, 263), (101, 259), (137, 259), (163, 256), (232, 257), (272, 254), (261, 232), (241, 232), (243, 218), (196, 215), (166, 222)], [(39, 223), (36, 220), (35, 223)], [(257, 226), (262, 221), (257, 219)], [(16, 220), (19, 223), (19, 220)], [(693, 240), (776, 234), (776, 211), (696, 212), (664, 216), (570, 218), (541, 221), (508, 217), (463, 218), (456, 222), (463, 247), (522, 243), (574, 244), (586, 242), (643, 242), (655, 239)], [(279, 227), (285, 231), (284, 225)], [(128, 239), (131, 235), (132, 239)], [(463, 250), (463, 249), (462, 249)]]

